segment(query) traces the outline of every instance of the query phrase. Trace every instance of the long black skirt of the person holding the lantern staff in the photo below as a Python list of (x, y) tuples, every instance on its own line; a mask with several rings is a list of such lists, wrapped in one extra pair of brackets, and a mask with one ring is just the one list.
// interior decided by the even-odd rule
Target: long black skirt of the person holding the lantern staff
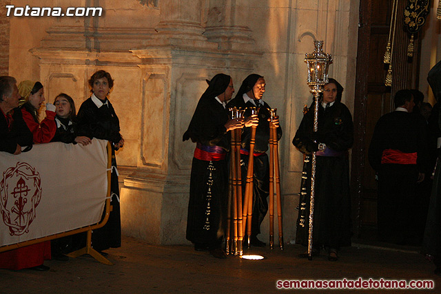
[[(305, 160), (297, 220), (297, 244), (308, 244), (312, 156)], [(308, 160), (309, 159), (309, 160)], [(347, 156), (317, 156), (313, 244), (339, 249), (351, 246), (351, 198)]]

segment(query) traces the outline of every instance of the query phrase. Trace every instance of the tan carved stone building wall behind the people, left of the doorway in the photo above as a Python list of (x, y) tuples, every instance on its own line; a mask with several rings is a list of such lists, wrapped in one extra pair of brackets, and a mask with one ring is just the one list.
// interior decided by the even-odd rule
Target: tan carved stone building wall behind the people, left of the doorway
[[(12, 1), (25, 6), (26, 1)], [(183, 244), (194, 144), (182, 142), (205, 78), (230, 74), (236, 90), (253, 72), (265, 76), (265, 101), (283, 127), (280, 168), (285, 242), (295, 236), (302, 154), (291, 145), (311, 103), (305, 53), (325, 41), (330, 76), (352, 108), (358, 1), (156, 0), (39, 1), (101, 6), (101, 17), (10, 18), (10, 74), (40, 80), (49, 101), (59, 92), (77, 107), (99, 69), (115, 79), (110, 101), (121, 120), (118, 151), (123, 233), (155, 244)], [(268, 235), (267, 220), (263, 235)], [(263, 237), (265, 239), (266, 237)]]

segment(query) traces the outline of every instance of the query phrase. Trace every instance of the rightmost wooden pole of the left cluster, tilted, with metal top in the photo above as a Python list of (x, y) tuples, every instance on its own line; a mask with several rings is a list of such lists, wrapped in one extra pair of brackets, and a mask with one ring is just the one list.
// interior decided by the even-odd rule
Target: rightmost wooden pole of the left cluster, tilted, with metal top
[[(249, 107), (251, 115), (258, 114), (258, 108)], [(251, 247), (251, 222), (253, 216), (253, 179), (254, 179), (254, 144), (256, 143), (256, 128), (251, 127), (251, 139), (249, 140), (249, 157), (247, 169), (247, 181), (245, 183), (245, 199), (243, 205), (243, 224), (246, 224), (248, 235), (248, 248)], [(245, 235), (245, 225), (243, 226)]]

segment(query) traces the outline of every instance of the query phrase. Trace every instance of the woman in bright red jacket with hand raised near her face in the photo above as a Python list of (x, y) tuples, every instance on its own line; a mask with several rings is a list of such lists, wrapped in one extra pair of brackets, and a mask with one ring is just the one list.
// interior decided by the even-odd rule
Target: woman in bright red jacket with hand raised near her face
[(39, 122), (39, 109), (45, 101), (43, 85), (40, 82), (22, 81), (19, 83), (19, 94), (25, 103), (21, 112), (26, 125), (32, 132), (34, 143), (49, 143), (57, 131), (55, 124), (55, 106), (46, 103), (46, 117)]

